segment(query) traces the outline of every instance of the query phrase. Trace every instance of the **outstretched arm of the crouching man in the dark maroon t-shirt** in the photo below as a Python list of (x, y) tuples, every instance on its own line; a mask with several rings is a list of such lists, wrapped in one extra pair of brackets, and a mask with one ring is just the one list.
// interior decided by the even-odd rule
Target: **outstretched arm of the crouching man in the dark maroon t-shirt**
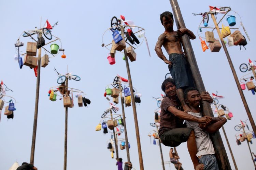
[(176, 109), (173, 106), (168, 107), (168, 111), (171, 112), (174, 116), (177, 116), (181, 119), (188, 120), (188, 121), (195, 121), (195, 122), (199, 122), (199, 123), (209, 124), (212, 120), (212, 117), (209, 117), (209, 116), (204, 116), (202, 118), (192, 116), (190, 114), (187, 114), (185, 112), (182, 112), (182, 111)]

